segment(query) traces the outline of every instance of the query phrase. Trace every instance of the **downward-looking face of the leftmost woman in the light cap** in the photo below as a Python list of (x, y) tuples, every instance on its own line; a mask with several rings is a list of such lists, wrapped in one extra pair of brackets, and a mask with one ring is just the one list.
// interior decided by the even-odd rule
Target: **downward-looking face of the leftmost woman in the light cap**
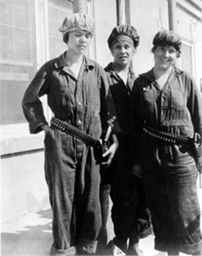
[(92, 34), (84, 30), (76, 30), (69, 33), (69, 40), (67, 42), (68, 50), (73, 54), (84, 54), (90, 40), (92, 39)]

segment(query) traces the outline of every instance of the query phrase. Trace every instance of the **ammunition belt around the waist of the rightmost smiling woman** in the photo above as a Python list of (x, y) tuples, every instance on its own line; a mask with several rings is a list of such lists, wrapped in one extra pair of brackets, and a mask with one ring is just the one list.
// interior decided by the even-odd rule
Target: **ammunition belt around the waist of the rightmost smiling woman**
[(172, 143), (175, 145), (190, 145), (190, 143), (193, 142), (193, 139), (190, 137), (175, 135), (171, 132), (162, 132), (158, 129), (149, 127), (149, 125), (146, 123), (144, 123), (143, 130), (147, 135), (154, 137), (157, 140), (162, 140), (164, 142)]

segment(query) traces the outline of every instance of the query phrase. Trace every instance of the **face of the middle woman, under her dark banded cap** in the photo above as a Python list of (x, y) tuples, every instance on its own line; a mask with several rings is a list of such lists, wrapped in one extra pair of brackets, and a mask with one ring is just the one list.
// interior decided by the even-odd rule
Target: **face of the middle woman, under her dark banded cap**
[(114, 57), (114, 62), (121, 67), (126, 67), (133, 59), (135, 48), (131, 46), (131, 43), (120, 41), (113, 45), (111, 51)]

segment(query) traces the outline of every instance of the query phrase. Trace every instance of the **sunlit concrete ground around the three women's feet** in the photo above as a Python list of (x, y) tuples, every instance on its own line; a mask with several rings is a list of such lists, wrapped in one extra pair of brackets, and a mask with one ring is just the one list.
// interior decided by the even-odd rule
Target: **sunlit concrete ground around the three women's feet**
[[(198, 189), (198, 195), (202, 210), (202, 189)], [(1, 223), (1, 256), (49, 255), (53, 241), (51, 217), (51, 209), (48, 208), (23, 213)], [(114, 234), (110, 218), (107, 225), (110, 239), (112, 239)], [(140, 248), (144, 256), (157, 254), (154, 250), (154, 236), (141, 239)]]

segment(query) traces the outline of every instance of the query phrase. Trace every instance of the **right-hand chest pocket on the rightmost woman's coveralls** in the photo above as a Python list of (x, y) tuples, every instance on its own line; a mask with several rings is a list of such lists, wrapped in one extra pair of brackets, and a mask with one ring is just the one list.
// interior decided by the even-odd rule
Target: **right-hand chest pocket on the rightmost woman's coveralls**
[(183, 111), (186, 107), (186, 95), (178, 89), (171, 89), (170, 106), (177, 111)]

